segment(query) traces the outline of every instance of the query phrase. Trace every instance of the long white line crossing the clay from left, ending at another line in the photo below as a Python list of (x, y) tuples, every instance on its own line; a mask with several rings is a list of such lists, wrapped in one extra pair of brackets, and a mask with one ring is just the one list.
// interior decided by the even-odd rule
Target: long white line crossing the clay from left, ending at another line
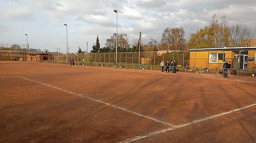
[[(15, 76), (13, 76), (13, 77), (15, 77)], [(157, 120), (157, 119), (154, 119), (154, 118), (151, 118), (151, 117), (148, 117), (148, 116), (145, 116), (145, 115), (141, 115), (141, 114), (139, 114), (139, 113), (130, 111), (130, 110), (128, 110), (128, 109), (124, 109), (124, 108), (121, 108), (121, 107), (117, 107), (117, 106), (115, 106), (115, 105), (108, 104), (108, 103), (105, 103), (105, 102), (103, 102), (103, 101), (99, 101), (99, 100), (97, 100), (97, 99), (93, 99), (93, 98), (90, 98), (90, 97), (87, 97), (87, 96), (84, 96), (84, 95), (80, 95), (80, 94), (77, 94), (77, 93), (73, 93), (73, 92), (70, 92), (70, 91), (68, 91), (68, 90), (64, 90), (64, 89), (58, 88), (58, 87), (54, 87), (54, 86), (51, 86), (51, 85), (49, 85), (49, 84), (44, 84), (44, 83), (41, 83), (41, 82), (39, 82), (39, 81), (34, 81), (34, 80), (32, 80), (32, 79), (27, 79), (27, 78), (24, 78), (24, 77), (21, 77), (21, 76), (16, 76), (16, 77), (20, 77), (20, 78), (22, 78), (22, 79), (26, 79), (26, 80), (33, 81), (33, 82), (36, 82), (36, 83), (39, 83), (39, 84), (43, 84), (43, 85), (46, 85), (46, 86), (48, 86), (48, 87), (52, 87), (52, 88), (55, 88), (55, 89), (57, 89), (57, 90), (61, 90), (61, 91), (64, 91), (64, 92), (67, 92), (67, 93), (70, 93), (70, 94), (73, 94), (73, 95), (78, 95), (78, 96), (80, 96), (80, 97), (82, 97), (82, 98), (87, 98), (87, 99), (90, 99), (90, 100), (92, 100), (92, 101), (99, 102), (99, 103), (101, 103), (101, 104), (106, 104), (106, 105), (108, 105), (108, 106), (110, 106), (110, 107), (114, 107), (114, 108), (116, 108), (116, 109), (120, 109), (120, 110), (129, 112), (129, 113), (132, 113), (132, 114), (134, 114), (134, 115), (137, 115), (137, 116), (140, 116), (140, 117), (143, 117), (143, 118), (146, 118), (146, 119), (151, 119), (151, 120), (153, 120), (153, 121), (155, 121), (155, 122), (158, 122), (158, 123), (163, 123), (163, 124), (168, 125), (168, 126), (177, 127), (177, 126), (172, 125), (172, 124), (170, 124), (170, 123), (166, 123), (166, 122), (164, 122), (164, 121), (159, 121), (159, 120)]]

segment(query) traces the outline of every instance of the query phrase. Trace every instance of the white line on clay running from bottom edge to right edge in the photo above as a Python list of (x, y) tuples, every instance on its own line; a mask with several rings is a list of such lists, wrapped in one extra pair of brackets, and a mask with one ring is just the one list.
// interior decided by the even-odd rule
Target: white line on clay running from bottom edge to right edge
[(135, 140), (140, 140), (140, 139), (145, 138), (145, 137), (156, 135), (156, 134), (159, 134), (159, 133), (162, 133), (162, 132), (166, 132), (166, 131), (169, 131), (169, 130), (172, 130), (172, 129), (182, 128), (184, 126), (188, 126), (188, 125), (191, 125), (191, 124), (194, 124), (194, 123), (198, 123), (198, 122), (201, 122), (201, 121), (206, 121), (206, 120), (209, 120), (211, 118), (215, 118), (215, 117), (218, 117), (218, 116), (226, 115), (226, 114), (229, 114), (229, 113), (232, 113), (232, 112), (236, 112), (236, 111), (239, 111), (241, 109), (245, 109), (245, 108), (252, 107), (252, 106), (255, 106), (255, 105), (256, 104), (250, 104), (250, 105), (247, 105), (247, 106), (244, 106), (244, 107), (241, 107), (241, 108), (230, 110), (228, 112), (223, 112), (223, 113), (220, 113), (220, 114), (217, 114), (217, 115), (212, 115), (212, 116), (209, 116), (207, 118), (201, 118), (201, 119), (189, 122), (189, 123), (183, 123), (183, 124), (177, 125), (176, 127), (171, 127), (171, 128), (168, 128), (168, 129), (160, 129), (160, 130), (157, 130), (157, 131), (154, 131), (154, 132), (150, 132), (147, 135), (141, 135), (141, 136), (130, 138), (128, 140), (120, 141), (119, 143), (129, 143), (129, 142), (132, 142), (132, 141), (135, 141)]

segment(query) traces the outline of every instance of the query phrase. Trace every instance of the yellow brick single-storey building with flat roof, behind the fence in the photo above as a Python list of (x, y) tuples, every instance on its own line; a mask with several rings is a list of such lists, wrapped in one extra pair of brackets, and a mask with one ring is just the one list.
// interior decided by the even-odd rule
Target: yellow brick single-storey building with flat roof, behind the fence
[(218, 70), (225, 60), (231, 68), (251, 70), (256, 68), (256, 47), (190, 49), (190, 67)]

